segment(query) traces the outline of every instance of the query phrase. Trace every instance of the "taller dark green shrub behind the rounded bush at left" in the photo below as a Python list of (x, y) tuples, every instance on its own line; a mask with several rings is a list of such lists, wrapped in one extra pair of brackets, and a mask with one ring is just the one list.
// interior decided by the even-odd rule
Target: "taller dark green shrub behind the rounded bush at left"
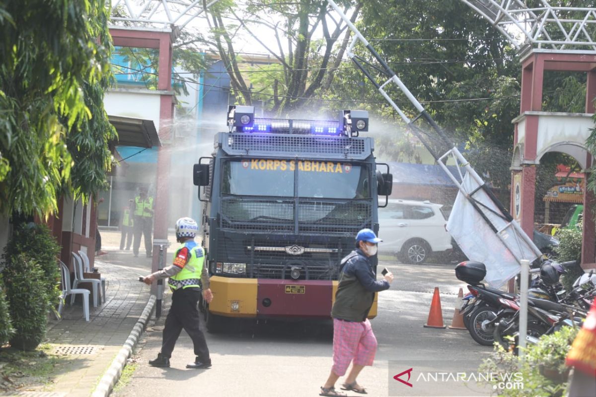
[(23, 223), (18, 226), (5, 249), (4, 261), (10, 265), (19, 254), (26, 254), (30, 260), (44, 271), (46, 295), (49, 308), (60, 301), (60, 267), (58, 256), (60, 246), (45, 224)]

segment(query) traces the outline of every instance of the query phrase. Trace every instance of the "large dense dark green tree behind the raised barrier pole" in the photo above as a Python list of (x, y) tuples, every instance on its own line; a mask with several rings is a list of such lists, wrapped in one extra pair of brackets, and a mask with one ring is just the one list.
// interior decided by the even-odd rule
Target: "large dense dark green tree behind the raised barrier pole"
[[(373, 0), (358, 26), (454, 143), (465, 143), (479, 159), (495, 146), (503, 151), (499, 157), (508, 156), (509, 121), (519, 113), (519, 65), (513, 45), (488, 21), (458, 0)], [(363, 48), (358, 54), (373, 61)], [(371, 94), (368, 100), (381, 98)], [(390, 87), (389, 95), (406, 114), (417, 114), (401, 92)], [(381, 107), (393, 112), (389, 104)], [(504, 159), (492, 159), (502, 167)], [(491, 164), (477, 165), (496, 177)]]

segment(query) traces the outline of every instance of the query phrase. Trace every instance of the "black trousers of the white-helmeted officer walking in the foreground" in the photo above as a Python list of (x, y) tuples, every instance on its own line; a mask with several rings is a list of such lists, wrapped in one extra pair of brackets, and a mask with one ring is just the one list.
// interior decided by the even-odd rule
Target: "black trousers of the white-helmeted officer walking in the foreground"
[(190, 339), (193, 340), (194, 355), (201, 362), (211, 362), (205, 336), (198, 327), (197, 302), (200, 293), (200, 290), (190, 288), (179, 288), (172, 293), (172, 307), (167, 313), (166, 326), (163, 329), (163, 357), (172, 357), (176, 340), (178, 340), (180, 332), (184, 329)]

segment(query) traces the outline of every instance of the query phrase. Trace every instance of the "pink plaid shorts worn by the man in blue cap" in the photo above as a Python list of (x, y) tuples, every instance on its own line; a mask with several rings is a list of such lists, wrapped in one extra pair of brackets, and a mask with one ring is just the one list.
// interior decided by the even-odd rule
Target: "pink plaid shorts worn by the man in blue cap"
[(343, 376), (350, 362), (373, 365), (377, 353), (377, 338), (368, 318), (361, 323), (333, 319), (333, 367), (337, 376)]

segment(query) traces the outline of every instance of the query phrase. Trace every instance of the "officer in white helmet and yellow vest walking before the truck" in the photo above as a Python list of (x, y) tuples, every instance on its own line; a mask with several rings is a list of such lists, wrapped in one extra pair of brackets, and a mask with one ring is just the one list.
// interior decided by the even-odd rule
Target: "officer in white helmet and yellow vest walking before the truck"
[(143, 282), (151, 285), (154, 280), (170, 277), (167, 284), (172, 289), (172, 307), (167, 312), (166, 325), (163, 329), (162, 351), (155, 360), (150, 360), (153, 367), (169, 367), (170, 357), (176, 340), (182, 329), (193, 340), (194, 362), (187, 368), (210, 368), (211, 358), (203, 332), (200, 330), (197, 302), (200, 298), (201, 285), (203, 298), (207, 303), (213, 299), (209, 289), (209, 274), (204, 263), (203, 248), (194, 242), (198, 226), (193, 218), (180, 218), (176, 221), (176, 240), (180, 243), (174, 253), (173, 264), (156, 271)]

